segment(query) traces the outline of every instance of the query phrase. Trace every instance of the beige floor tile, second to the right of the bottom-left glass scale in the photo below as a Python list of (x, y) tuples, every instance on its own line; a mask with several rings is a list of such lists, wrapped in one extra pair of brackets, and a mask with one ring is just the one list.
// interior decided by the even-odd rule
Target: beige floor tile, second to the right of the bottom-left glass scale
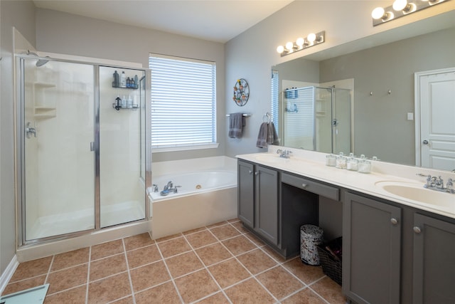
[(128, 273), (119, 273), (88, 286), (88, 303), (107, 303), (132, 295)]

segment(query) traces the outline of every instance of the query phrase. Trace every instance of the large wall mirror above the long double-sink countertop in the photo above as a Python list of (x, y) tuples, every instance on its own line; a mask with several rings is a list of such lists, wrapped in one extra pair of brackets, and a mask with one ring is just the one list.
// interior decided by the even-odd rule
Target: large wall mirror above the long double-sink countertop
[[(446, 22), (439, 24), (442, 28), (431, 33), (422, 31), (422, 35), (416, 34), (418, 28), (412, 29), (412, 24), (407, 29), (417, 36), (382, 45), (378, 45), (377, 41), (373, 43), (372, 38), (368, 37), (364, 49), (353, 53), (345, 52), (327, 58), (326, 54), (330, 51), (326, 50), (323, 51), (322, 60), (314, 59), (318, 58), (318, 54), (314, 54), (272, 66), (272, 75), (277, 77), (278, 88), (275, 91), (278, 93), (275, 103), (279, 109), (276, 123), (279, 125), (279, 137), (282, 138), (280, 145), (319, 152), (353, 152), (367, 157), (377, 156), (385, 162), (455, 169), (455, 80), (447, 78), (444, 85), (433, 85), (432, 89), (438, 87), (441, 93), (429, 100), (437, 108), (425, 108), (427, 110), (422, 110), (417, 103), (419, 96), (424, 93), (423, 89), (418, 89), (419, 84), (414, 85), (414, 78), (417, 81), (416, 73), (455, 75), (454, 21), (449, 26)], [(384, 35), (380, 37), (387, 41)], [(359, 49), (360, 44), (360, 41), (354, 41), (353, 48)], [(372, 45), (376, 46), (370, 47)], [(346, 50), (349, 46), (343, 48)], [(445, 69), (444, 73), (439, 73), (441, 69)], [(432, 84), (429, 85), (431, 87)], [(351, 91), (352, 94), (350, 101), (337, 104), (336, 112), (333, 113), (333, 109), (328, 107), (329, 103), (319, 101), (322, 91), (318, 93), (315, 90), (311, 102), (314, 107), (313, 116), (311, 119), (306, 117), (305, 120), (300, 111), (304, 105), (297, 103), (300, 98), (286, 98), (286, 89), (299, 88), (294, 91), (300, 96), (304, 95), (304, 91), (309, 92), (307, 90), (310, 89), (303, 89), (308, 87), (339, 88)], [(414, 107), (414, 102), (418, 108)], [(273, 103), (272, 100), (272, 106)], [(333, 107), (333, 101), (330, 105)], [(446, 110), (442, 110), (444, 108)], [(292, 111), (295, 109), (298, 112)], [(350, 136), (343, 139), (337, 137), (342, 125), (337, 114), (341, 111), (350, 113), (350, 117), (344, 117), (349, 120)], [(314, 129), (309, 127), (313, 122)], [(339, 125), (334, 127), (334, 122)], [(432, 122), (438, 123), (432, 125)], [(444, 133), (444, 139), (421, 138), (421, 135), (424, 136), (422, 123), (429, 124), (430, 129), (437, 129), (438, 134)], [(346, 132), (343, 133), (346, 135)], [(429, 138), (431, 136), (428, 135)], [(425, 140), (429, 144), (423, 144)], [(444, 153), (436, 155), (434, 150), (439, 145), (437, 142), (442, 140), (446, 142)], [(343, 141), (343, 145), (340, 145), (340, 141)]]

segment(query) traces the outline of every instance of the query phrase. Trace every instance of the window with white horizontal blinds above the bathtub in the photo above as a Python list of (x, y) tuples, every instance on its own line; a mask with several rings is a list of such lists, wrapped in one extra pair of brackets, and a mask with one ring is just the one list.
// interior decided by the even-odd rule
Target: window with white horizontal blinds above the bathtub
[(216, 143), (216, 65), (150, 54), (151, 147), (205, 149)]

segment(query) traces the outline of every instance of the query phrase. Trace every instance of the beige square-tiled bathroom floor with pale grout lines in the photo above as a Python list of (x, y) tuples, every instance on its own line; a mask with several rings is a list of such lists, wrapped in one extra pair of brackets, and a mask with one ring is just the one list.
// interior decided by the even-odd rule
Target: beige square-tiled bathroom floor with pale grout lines
[(285, 261), (238, 219), (139, 234), (21, 263), (4, 295), (49, 283), (45, 303), (346, 303), (319, 266)]

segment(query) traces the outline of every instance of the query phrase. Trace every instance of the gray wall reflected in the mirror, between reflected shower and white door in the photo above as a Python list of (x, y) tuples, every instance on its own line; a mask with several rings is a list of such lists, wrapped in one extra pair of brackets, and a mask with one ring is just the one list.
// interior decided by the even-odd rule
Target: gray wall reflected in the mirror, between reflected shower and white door
[(321, 61), (321, 83), (354, 78), (356, 154), (415, 164), (414, 73), (455, 67), (454, 50), (450, 28)]

